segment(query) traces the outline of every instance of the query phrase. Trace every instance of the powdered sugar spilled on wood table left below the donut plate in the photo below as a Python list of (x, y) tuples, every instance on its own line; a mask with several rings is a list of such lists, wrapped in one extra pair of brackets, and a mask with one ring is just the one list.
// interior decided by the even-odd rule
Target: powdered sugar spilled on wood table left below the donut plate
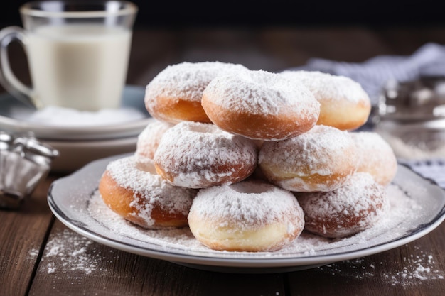
[[(113, 250), (110, 250), (113, 252)], [(31, 254), (38, 250), (31, 250)], [(66, 278), (76, 271), (88, 275), (97, 270), (104, 255), (92, 247), (92, 241), (68, 229), (50, 237), (41, 259), (41, 268)], [(101, 268), (101, 271), (106, 271)]]

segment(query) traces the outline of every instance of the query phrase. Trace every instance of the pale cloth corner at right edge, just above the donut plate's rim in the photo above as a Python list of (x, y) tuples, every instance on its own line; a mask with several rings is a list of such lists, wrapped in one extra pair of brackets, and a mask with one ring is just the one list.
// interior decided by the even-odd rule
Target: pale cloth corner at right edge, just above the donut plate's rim
[(404, 165), (417, 172), (422, 177), (433, 180), (441, 188), (445, 189), (445, 160), (408, 160), (401, 161)]

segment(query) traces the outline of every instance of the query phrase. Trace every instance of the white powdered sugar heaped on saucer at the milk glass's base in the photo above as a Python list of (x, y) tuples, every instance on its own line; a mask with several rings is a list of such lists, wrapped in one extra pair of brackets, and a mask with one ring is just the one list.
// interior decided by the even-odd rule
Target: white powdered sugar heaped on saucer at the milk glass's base
[[(19, 116), (19, 114), (14, 116)], [(132, 108), (78, 111), (70, 108), (48, 106), (37, 110), (30, 116), (26, 116), (25, 120), (45, 126), (81, 127), (122, 124), (145, 117), (146, 114)]]

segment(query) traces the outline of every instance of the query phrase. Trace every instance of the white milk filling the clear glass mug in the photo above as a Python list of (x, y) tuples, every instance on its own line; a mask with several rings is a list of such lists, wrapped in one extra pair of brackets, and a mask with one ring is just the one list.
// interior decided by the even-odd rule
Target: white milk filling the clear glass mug
[(132, 32), (103, 24), (40, 26), (28, 34), (33, 87), (45, 105), (117, 108)]

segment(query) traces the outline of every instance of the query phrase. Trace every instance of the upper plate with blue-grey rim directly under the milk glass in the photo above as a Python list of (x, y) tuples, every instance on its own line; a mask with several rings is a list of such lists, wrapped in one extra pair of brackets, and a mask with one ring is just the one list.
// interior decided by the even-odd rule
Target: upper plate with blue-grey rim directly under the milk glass
[(11, 132), (31, 131), (36, 138), (53, 141), (97, 141), (134, 136), (148, 124), (149, 113), (144, 106), (144, 87), (127, 85), (122, 94), (122, 110), (135, 109), (141, 116), (136, 120), (100, 126), (55, 126), (28, 121), (35, 109), (10, 94), (0, 95), (0, 128)]

